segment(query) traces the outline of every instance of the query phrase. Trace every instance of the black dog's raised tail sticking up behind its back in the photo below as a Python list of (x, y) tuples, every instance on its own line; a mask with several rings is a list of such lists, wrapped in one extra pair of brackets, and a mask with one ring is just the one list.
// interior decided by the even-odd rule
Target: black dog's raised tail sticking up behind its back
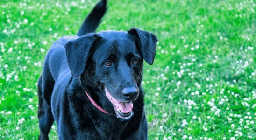
[(87, 15), (77, 35), (82, 36), (95, 32), (100, 24), (101, 18), (107, 11), (107, 0), (100, 0), (92, 11)]

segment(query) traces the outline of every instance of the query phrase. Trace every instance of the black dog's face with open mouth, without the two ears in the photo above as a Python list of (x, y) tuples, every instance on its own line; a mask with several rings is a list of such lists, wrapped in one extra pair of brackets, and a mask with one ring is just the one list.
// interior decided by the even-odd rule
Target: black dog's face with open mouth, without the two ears
[(107, 98), (121, 117), (129, 117), (139, 95), (138, 81), (142, 76), (143, 57), (125, 32), (103, 32), (92, 53), (95, 72), (89, 78), (100, 83)]

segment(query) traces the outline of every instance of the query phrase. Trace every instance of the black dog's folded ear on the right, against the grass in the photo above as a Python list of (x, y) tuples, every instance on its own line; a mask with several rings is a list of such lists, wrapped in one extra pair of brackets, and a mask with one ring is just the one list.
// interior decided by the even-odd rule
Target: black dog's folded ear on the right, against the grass
[(135, 35), (144, 60), (152, 65), (156, 56), (156, 43), (158, 41), (156, 36), (137, 28), (131, 28), (127, 32)]

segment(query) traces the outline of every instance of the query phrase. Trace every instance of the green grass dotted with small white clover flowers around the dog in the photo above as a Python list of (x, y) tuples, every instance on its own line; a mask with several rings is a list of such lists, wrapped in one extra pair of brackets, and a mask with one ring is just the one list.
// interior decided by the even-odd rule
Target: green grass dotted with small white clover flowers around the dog
[[(75, 35), (96, 2), (0, 0), (1, 140), (38, 138), (36, 82), (46, 52), (57, 37)], [(159, 40), (142, 84), (149, 140), (256, 139), (255, 0), (109, 0), (108, 6), (98, 31), (136, 27)]]

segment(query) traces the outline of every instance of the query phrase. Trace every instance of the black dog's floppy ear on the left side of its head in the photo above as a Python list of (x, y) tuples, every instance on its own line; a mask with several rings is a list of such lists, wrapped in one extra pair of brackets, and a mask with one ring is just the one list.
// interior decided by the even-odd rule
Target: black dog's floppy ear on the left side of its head
[(85, 69), (87, 59), (100, 37), (87, 34), (65, 44), (66, 58), (73, 77), (79, 77)]

